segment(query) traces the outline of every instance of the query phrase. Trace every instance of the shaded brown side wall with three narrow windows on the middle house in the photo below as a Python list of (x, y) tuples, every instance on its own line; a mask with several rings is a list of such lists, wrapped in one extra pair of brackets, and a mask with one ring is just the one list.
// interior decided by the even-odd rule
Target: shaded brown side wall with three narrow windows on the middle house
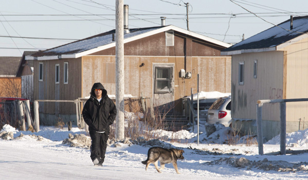
[[(68, 84), (64, 84), (64, 62), (68, 62)], [(39, 81), (39, 73), (34, 73), (34, 100), (74, 100), (81, 94), (81, 58), (57, 59), (50, 61), (34, 61), (34, 69), (39, 70), (39, 63), (43, 63), (43, 81)], [(60, 65), (60, 83), (55, 84), (55, 65)], [(74, 103), (39, 103), (40, 112), (47, 114), (74, 114), (76, 107)]]

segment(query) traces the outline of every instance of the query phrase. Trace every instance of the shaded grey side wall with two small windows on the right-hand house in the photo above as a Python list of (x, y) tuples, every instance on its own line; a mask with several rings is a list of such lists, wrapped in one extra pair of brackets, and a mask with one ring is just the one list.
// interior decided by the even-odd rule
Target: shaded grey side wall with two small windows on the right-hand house
[[(259, 99), (283, 98), (283, 51), (232, 56), (232, 118), (256, 119)], [(257, 78), (253, 63), (257, 60)], [(244, 62), (244, 85), (239, 85), (239, 62)], [(262, 119), (279, 121), (279, 104), (266, 104)]]

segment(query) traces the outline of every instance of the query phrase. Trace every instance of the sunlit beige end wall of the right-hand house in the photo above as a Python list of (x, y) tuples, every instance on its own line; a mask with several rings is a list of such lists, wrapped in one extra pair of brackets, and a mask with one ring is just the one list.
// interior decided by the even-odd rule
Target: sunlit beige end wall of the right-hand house
[[(307, 98), (308, 38), (289, 45), (283, 50), (287, 51), (286, 98)], [(287, 121), (299, 122), (301, 119), (303, 122), (307, 118), (308, 102), (286, 103)]]

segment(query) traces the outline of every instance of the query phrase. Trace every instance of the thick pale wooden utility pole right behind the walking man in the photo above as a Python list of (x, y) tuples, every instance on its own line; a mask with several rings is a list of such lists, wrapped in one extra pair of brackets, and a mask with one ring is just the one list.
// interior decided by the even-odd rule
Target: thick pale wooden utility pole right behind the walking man
[(116, 0), (116, 139), (124, 139), (124, 23), (123, 0)]

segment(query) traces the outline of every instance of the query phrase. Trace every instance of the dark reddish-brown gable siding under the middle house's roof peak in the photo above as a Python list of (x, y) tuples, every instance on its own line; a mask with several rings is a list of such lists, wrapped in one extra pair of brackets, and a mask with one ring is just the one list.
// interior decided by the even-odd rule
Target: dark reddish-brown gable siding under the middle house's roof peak
[[(224, 49), (212, 43), (174, 31), (174, 46), (166, 46), (165, 32), (124, 44), (130, 56), (220, 56)], [(115, 55), (115, 47), (91, 55)]]

